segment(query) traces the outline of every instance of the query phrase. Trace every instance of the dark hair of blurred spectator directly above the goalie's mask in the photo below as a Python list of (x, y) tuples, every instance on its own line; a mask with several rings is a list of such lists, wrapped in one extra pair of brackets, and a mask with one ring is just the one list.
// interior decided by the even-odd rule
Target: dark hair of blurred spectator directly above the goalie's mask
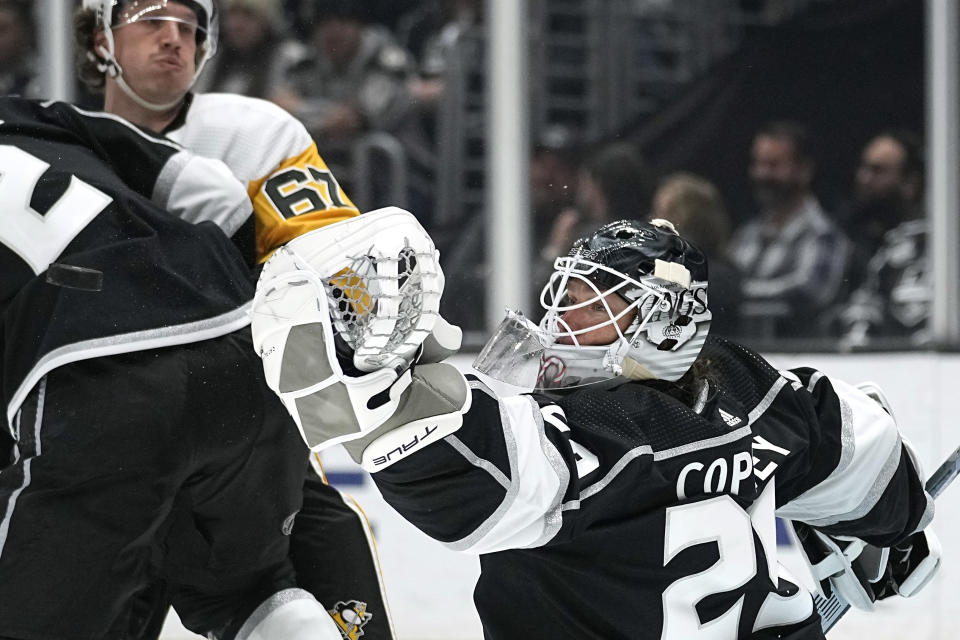
[(614, 142), (587, 159), (583, 168), (607, 199), (607, 217), (646, 218), (652, 180), (643, 156), (628, 142)]

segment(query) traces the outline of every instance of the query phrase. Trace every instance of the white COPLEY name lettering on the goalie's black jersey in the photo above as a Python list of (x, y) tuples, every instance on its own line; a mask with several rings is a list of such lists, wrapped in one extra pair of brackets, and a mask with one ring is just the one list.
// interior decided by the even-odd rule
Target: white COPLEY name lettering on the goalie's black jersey
[[(752, 453), (740, 451), (732, 456), (716, 458), (708, 465), (691, 462), (680, 470), (677, 476), (677, 499), (687, 500), (699, 494), (740, 494), (740, 486), (751, 476), (765, 483), (790, 454), (788, 449), (778, 447), (763, 436), (753, 436)], [(750, 482), (751, 492), (756, 484)]]

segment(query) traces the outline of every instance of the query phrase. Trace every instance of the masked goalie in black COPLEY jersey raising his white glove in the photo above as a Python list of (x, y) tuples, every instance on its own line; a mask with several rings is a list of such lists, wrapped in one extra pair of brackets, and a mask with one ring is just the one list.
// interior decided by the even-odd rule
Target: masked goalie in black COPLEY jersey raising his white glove
[[(357, 367), (341, 308), (303, 286), (342, 265), (304, 240), (258, 284), (268, 384), (310, 446), (344, 442), (404, 518), (479, 554), (486, 638), (823, 638), (775, 516), (875, 551), (857, 562), (877, 559), (876, 583), (840, 588), (910, 595), (935, 570), (933, 503), (891, 415), (709, 335), (706, 260), (669, 223), (609, 223), (557, 259), (539, 325), (509, 316), (477, 360), (535, 387), (508, 397), (443, 362)], [(412, 299), (437, 295), (423, 282)]]

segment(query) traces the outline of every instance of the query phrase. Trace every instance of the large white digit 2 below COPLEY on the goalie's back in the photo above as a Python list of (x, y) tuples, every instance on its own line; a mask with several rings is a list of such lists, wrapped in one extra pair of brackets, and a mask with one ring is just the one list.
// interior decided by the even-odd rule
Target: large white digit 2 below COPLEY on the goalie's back
[[(709, 523), (709, 532), (705, 531)], [(667, 509), (663, 564), (698, 544), (716, 543), (720, 559), (692, 576), (680, 578), (663, 592), (661, 640), (736, 638), (743, 596), (720, 617), (701, 625), (696, 605), (716, 593), (738, 589), (757, 573), (750, 516), (730, 496)]]

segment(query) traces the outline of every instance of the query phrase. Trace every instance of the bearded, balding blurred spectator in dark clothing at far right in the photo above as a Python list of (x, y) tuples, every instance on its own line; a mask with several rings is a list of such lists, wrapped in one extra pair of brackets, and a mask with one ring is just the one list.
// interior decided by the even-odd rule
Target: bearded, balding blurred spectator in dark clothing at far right
[(863, 284), (867, 262), (880, 249), (885, 234), (921, 216), (923, 171), (923, 145), (910, 131), (884, 131), (863, 148), (853, 197), (837, 216), (853, 243), (851, 290)]

